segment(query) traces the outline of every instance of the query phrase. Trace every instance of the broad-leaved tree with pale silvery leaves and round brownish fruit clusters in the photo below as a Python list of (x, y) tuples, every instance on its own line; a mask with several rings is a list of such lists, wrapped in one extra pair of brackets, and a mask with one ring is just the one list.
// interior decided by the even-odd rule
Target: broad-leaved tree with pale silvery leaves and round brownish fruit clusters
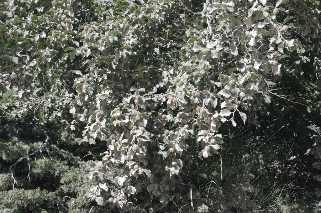
[[(279, 131), (278, 107), (319, 113), (320, 10), (304, 0), (4, 2), (0, 112), (40, 125), (71, 114), (59, 122), (80, 143), (106, 143), (87, 201), (166, 204), (188, 147), (206, 162), (237, 126)], [(320, 125), (308, 117), (302, 131)], [(117, 184), (105, 178), (114, 168)]]

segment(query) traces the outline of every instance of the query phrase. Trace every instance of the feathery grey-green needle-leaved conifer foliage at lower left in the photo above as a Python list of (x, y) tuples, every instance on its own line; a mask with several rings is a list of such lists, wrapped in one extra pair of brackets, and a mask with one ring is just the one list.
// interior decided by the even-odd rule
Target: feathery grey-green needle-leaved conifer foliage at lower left
[[(90, 158), (84, 161), (77, 156), (82, 153), (81, 149), (89, 147), (80, 146), (74, 134), (66, 134), (63, 130), (57, 129), (52, 132), (56, 131), (61, 132), (60, 136), (52, 135), (52, 138), (58, 138), (59, 142), (53, 141), (48, 147), (52, 159), (46, 153), (44, 156), (38, 153), (30, 158), (30, 162), (26, 159), (21, 161), (14, 168), (14, 178), (18, 187), (12, 189), (9, 166), (18, 158), (26, 157), (28, 153), (42, 148), (43, 144), (39, 141), (38, 130), (1, 123), (1, 212), (88, 212), (93, 207), (84, 204), (83, 196), (90, 185), (86, 171), (94, 163)], [(63, 149), (65, 146), (69, 149), (76, 147), (78, 152), (77, 149), (73, 150), (74, 152), (65, 150)], [(97, 154), (94, 151), (93, 153)]]

